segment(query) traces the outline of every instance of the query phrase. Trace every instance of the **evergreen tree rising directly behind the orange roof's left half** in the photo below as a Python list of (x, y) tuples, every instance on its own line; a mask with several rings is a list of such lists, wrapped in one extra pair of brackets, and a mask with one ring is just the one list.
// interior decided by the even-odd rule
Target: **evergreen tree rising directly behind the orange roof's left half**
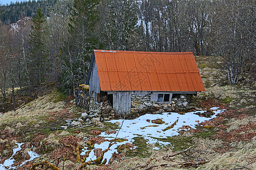
[(98, 35), (106, 49), (138, 50), (138, 18), (135, 1), (102, 0), (98, 8)]

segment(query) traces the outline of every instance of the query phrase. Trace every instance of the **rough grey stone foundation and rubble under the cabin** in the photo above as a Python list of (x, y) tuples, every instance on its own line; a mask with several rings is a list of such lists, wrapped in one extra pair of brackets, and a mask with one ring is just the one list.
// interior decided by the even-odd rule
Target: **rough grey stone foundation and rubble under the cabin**
[[(193, 107), (189, 106), (188, 100), (191, 95), (175, 95), (170, 103), (156, 103), (151, 101), (151, 93), (138, 96), (131, 95), (131, 117), (136, 118), (142, 114), (151, 113), (158, 114), (163, 112), (179, 112), (184, 113), (187, 111), (194, 110)], [(101, 98), (101, 102), (94, 102), (93, 97), (89, 99), (89, 89), (85, 85), (80, 85), (76, 90), (76, 104), (79, 107), (88, 109), (87, 114), (93, 115), (93, 118), (100, 117), (100, 121), (108, 121), (114, 118), (114, 111), (112, 106), (109, 104), (106, 96)], [(96, 114), (97, 113), (97, 114)], [(89, 120), (88, 120), (89, 118)], [(90, 117), (87, 117), (85, 121), (91, 121)]]

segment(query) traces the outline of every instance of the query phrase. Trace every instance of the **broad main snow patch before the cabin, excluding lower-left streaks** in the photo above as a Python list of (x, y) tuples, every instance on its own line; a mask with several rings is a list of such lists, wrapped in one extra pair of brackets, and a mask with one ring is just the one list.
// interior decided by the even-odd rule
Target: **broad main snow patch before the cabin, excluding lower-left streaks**
[[(205, 111), (197, 111), (203, 113)], [(217, 113), (218, 111), (213, 111)], [(144, 114), (141, 117), (138, 117), (134, 120), (125, 120), (123, 122), (122, 128), (119, 131), (118, 138), (125, 138), (129, 142), (134, 142), (133, 138), (141, 136), (147, 140), (147, 143), (159, 143), (161, 145), (168, 145), (168, 142), (160, 142), (154, 138), (167, 138), (172, 137), (174, 135), (179, 135), (179, 130), (182, 128), (183, 125), (189, 125), (191, 128), (195, 128), (197, 124), (200, 122), (210, 120), (211, 118), (216, 117), (214, 114), (211, 118), (207, 117), (200, 117), (195, 112), (188, 112), (185, 114), (179, 114), (175, 112), (170, 113), (162, 113), (162, 114)], [(148, 122), (147, 120), (156, 120), (162, 119), (165, 124), (153, 124), (152, 122)], [(178, 120), (174, 128), (163, 131), (168, 126), (174, 124), (174, 122)], [(123, 120), (111, 120), (109, 122), (115, 123), (120, 122), (122, 124)], [(121, 125), (119, 125), (121, 126)], [(108, 137), (108, 138), (115, 138), (116, 134), (106, 134), (101, 133), (100, 136)]]

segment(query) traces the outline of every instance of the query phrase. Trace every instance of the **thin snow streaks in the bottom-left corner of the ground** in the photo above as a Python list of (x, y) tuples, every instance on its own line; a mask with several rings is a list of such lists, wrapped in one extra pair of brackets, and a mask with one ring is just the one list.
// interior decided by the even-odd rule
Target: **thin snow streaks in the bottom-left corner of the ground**
[[(13, 166), (14, 161), (15, 161), (13, 156), (16, 154), (16, 152), (18, 152), (18, 151), (20, 151), (22, 149), (21, 146), (24, 143), (15, 143), (15, 144), (18, 145), (18, 148), (14, 148), (13, 149), (13, 155), (11, 155), (11, 157), (9, 159), (6, 159), (3, 164), (0, 164), (0, 169), (5, 169), (5, 167), (9, 167), (10, 169), (16, 169), (16, 167)], [(35, 158), (38, 158), (40, 156), (40, 155), (38, 155), (38, 154), (36, 154), (35, 152), (32, 152), (32, 151), (28, 151), (28, 155), (30, 155), (30, 159), (26, 160), (25, 162), (23, 162), (20, 166), (22, 166), (26, 162), (28, 162), (30, 160), (33, 160)], [(5, 165), (5, 167), (3, 165)]]

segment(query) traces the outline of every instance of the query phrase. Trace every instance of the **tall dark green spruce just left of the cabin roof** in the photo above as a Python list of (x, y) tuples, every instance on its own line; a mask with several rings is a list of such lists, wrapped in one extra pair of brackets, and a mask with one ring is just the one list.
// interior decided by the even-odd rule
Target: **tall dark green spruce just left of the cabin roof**
[(75, 95), (75, 87), (84, 84), (93, 48), (97, 44), (94, 39), (94, 25), (97, 23), (96, 5), (100, 0), (75, 0), (69, 18), (69, 41), (63, 46), (63, 76), (61, 85), (64, 90), (71, 90)]

